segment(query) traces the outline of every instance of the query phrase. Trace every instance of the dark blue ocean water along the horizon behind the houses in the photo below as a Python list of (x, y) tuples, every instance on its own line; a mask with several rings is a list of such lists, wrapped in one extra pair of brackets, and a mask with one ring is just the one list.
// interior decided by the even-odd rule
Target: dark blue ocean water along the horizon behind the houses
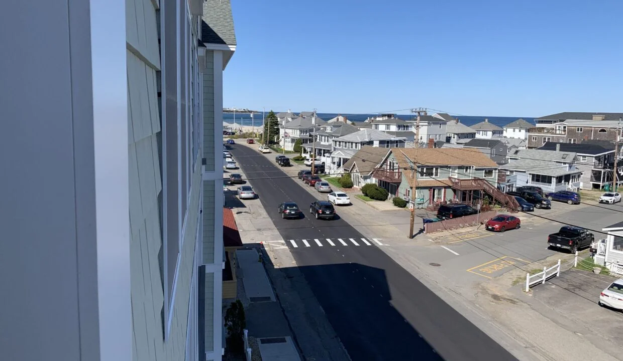
[[(432, 114), (432, 113), (430, 113)], [(376, 116), (377, 114), (341, 114), (345, 116), (349, 121), (353, 122), (363, 122), (368, 117)], [(235, 116), (235, 119), (234, 119)], [(338, 116), (336, 113), (318, 113), (318, 117), (321, 117), (323, 120), (328, 121), (331, 118)], [(405, 121), (412, 119), (411, 114), (398, 114), (397, 117), (403, 119)], [(454, 116), (455, 118), (459, 118), (460, 122), (465, 124), (466, 126), (473, 126), (473, 124), (477, 124), (479, 122), (484, 121), (485, 119), (489, 119), (489, 122), (495, 124), (496, 126), (503, 127), (506, 124), (516, 121), (519, 118), (524, 119), (531, 124), (535, 124), (535, 119), (533, 117), (492, 117), (492, 116)], [(251, 119), (251, 114), (245, 113), (223, 113), (223, 121), (227, 123), (234, 123), (242, 126), (253, 126), (256, 127), (262, 126), (262, 113), (257, 113), (253, 115), (253, 119)]]

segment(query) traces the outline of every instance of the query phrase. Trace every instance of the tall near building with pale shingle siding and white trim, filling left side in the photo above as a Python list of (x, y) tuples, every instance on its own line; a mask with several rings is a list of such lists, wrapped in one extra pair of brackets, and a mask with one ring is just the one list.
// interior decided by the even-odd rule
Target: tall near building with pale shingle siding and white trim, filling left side
[(3, 3), (2, 359), (222, 359), (231, 2), (122, 4)]

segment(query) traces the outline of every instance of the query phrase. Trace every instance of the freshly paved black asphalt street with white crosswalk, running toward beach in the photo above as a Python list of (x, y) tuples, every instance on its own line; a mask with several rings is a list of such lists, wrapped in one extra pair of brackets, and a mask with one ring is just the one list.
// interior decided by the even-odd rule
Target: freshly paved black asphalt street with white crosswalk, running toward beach
[[(315, 198), (297, 178), (286, 178), (257, 150), (229, 148), (351, 359), (516, 360), (394, 262), (382, 245), (339, 217), (310, 217)], [(305, 217), (282, 219), (277, 206), (283, 201), (296, 202)]]

